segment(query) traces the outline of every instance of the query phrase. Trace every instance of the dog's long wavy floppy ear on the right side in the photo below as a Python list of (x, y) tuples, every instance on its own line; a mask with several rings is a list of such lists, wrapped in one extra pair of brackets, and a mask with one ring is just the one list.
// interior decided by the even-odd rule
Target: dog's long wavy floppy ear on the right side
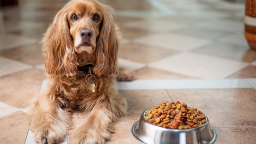
[(104, 5), (102, 23), (96, 50), (96, 65), (93, 72), (98, 76), (117, 74), (118, 42), (116, 39), (114, 9)]

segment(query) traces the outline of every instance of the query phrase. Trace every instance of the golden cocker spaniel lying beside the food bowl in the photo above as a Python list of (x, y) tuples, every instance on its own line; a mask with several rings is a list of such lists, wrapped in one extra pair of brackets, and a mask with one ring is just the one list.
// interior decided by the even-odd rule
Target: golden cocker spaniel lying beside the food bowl
[(56, 14), (42, 40), (48, 84), (31, 103), (29, 129), (35, 142), (62, 142), (73, 127), (74, 109), (88, 116), (74, 128), (73, 144), (110, 139), (111, 125), (127, 114), (116, 77), (133, 77), (120, 74), (117, 34), (114, 9), (96, 0), (71, 0)]

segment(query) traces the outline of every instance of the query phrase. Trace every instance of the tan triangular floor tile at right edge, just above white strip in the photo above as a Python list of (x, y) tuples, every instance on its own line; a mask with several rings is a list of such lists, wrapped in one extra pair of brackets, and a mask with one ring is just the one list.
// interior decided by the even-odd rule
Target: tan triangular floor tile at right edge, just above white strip
[(232, 74), (228, 79), (243, 79), (243, 78), (256, 78), (256, 66), (249, 65), (248, 67), (245, 67), (244, 69), (240, 70), (239, 72), (236, 72), (235, 74)]

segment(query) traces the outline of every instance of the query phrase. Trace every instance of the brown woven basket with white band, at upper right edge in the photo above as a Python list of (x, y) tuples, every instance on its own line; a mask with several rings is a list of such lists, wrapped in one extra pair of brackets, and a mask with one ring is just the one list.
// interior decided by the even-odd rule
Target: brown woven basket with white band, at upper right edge
[(256, 50), (256, 0), (246, 0), (244, 36), (251, 49)]

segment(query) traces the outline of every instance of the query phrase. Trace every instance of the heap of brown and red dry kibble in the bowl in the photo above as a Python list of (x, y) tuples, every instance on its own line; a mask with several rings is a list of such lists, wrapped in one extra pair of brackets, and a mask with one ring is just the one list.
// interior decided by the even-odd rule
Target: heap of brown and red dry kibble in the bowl
[(152, 107), (145, 114), (149, 123), (171, 129), (196, 128), (206, 122), (205, 115), (197, 108), (190, 108), (183, 102), (168, 102)]

